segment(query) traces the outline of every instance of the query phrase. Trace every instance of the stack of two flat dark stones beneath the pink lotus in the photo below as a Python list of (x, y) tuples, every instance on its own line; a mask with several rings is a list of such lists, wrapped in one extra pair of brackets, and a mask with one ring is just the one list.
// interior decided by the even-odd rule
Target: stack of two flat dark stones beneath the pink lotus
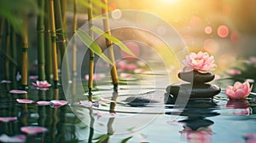
[(212, 72), (201, 73), (194, 70), (179, 72), (177, 76), (188, 83), (172, 84), (166, 88), (166, 92), (174, 98), (178, 95), (185, 95), (189, 98), (213, 98), (220, 92), (217, 85), (208, 83), (215, 77)]

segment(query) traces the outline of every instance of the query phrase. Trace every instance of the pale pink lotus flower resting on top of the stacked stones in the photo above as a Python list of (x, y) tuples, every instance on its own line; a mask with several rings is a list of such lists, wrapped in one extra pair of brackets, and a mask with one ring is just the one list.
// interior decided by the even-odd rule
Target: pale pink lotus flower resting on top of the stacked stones
[(184, 72), (195, 70), (205, 73), (216, 68), (216, 65), (214, 64), (214, 57), (202, 52), (199, 52), (198, 54), (190, 53), (182, 63), (183, 66), (185, 66), (183, 68)]

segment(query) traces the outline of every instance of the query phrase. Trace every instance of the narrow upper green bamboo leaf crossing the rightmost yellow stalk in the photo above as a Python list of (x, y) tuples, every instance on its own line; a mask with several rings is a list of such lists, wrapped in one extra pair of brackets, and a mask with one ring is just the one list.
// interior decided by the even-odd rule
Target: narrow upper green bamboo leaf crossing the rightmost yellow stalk
[(106, 32), (102, 31), (101, 29), (97, 28), (96, 26), (92, 26), (91, 30), (95, 31), (96, 33), (102, 35), (103, 37), (108, 38), (108, 40), (112, 41), (113, 43), (117, 44), (119, 46), (120, 49), (122, 49), (123, 51), (125, 51), (127, 54), (131, 54), (132, 56), (135, 57), (135, 54), (133, 54), (131, 52), (130, 49), (128, 49), (124, 43), (122, 43), (121, 41), (119, 41), (118, 38), (113, 37), (109, 34), (107, 34)]

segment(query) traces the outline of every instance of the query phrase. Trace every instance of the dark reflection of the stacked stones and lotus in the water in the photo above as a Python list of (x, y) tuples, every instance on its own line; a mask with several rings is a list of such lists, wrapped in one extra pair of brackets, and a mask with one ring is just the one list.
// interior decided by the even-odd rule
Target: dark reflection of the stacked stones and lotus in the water
[[(176, 99), (169, 98), (166, 100), (166, 104), (174, 105), (175, 101)], [(170, 108), (170, 106), (168, 107)], [(207, 117), (218, 116), (219, 113), (214, 112), (217, 108), (217, 104), (212, 100), (189, 100), (180, 114), (187, 118), (178, 121), (178, 123), (183, 123), (183, 130), (179, 133), (189, 142), (211, 142), (212, 129), (210, 126), (213, 121)], [(166, 114), (171, 114), (171, 112), (166, 112)]]

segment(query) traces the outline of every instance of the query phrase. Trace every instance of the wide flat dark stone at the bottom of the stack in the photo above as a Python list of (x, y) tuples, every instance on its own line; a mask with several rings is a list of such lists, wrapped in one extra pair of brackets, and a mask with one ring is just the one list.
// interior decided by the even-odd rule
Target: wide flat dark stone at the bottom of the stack
[(215, 84), (172, 84), (166, 88), (166, 92), (173, 97), (179, 95), (182, 98), (213, 98), (220, 92), (220, 88)]

